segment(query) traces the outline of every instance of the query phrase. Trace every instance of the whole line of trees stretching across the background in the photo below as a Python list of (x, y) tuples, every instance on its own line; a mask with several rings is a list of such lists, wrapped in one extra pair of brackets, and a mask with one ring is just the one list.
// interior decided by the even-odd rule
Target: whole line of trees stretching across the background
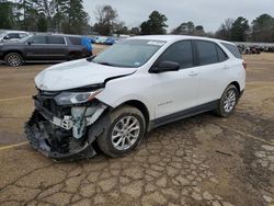
[[(90, 24), (82, 0), (0, 0), (0, 28), (69, 34), (167, 34), (168, 18), (152, 11), (139, 26), (127, 27), (111, 5), (93, 11), (96, 22)], [(215, 33), (204, 31), (192, 21), (182, 22), (171, 34), (217, 37), (233, 42), (274, 42), (274, 18), (262, 14), (251, 23), (244, 18), (227, 19)]]

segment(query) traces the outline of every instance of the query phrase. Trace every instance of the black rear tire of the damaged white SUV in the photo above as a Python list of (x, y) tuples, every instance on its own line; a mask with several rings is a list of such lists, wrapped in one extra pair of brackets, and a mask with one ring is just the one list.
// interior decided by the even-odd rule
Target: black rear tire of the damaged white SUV
[[(228, 99), (228, 95), (231, 95), (231, 93), (235, 94), (235, 101), (233, 101), (233, 104), (232, 104), (232, 101), (231, 101), (231, 104), (229, 104), (230, 106), (228, 106), (227, 110), (226, 110), (225, 108), (226, 107), (225, 105), (227, 103), (226, 101)], [(215, 114), (217, 114), (220, 117), (230, 116), (235, 112), (236, 105), (238, 103), (238, 99), (239, 99), (238, 89), (233, 84), (228, 85), (227, 89), (225, 90), (225, 92), (221, 95), (221, 99), (220, 99), (220, 101), (218, 103), (218, 107), (214, 111)], [(233, 99), (231, 99), (231, 100), (233, 100)]]

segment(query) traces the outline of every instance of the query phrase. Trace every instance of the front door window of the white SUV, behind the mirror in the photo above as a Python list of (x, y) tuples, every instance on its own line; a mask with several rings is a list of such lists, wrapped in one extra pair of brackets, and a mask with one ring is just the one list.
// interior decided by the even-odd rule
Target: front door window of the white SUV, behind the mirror
[(182, 41), (171, 45), (160, 57), (160, 61), (174, 61), (181, 68), (193, 67), (192, 43)]

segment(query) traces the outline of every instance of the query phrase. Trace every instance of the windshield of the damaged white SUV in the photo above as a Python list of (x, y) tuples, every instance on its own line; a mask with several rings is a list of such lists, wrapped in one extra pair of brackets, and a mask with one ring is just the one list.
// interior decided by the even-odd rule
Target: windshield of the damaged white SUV
[(92, 61), (113, 67), (140, 67), (164, 44), (162, 41), (128, 39), (99, 54)]

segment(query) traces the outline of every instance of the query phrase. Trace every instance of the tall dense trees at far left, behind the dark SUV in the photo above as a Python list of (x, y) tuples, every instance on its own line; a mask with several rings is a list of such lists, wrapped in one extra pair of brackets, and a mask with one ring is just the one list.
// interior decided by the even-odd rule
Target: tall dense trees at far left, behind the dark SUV
[(0, 28), (32, 32), (88, 33), (82, 0), (0, 1)]

